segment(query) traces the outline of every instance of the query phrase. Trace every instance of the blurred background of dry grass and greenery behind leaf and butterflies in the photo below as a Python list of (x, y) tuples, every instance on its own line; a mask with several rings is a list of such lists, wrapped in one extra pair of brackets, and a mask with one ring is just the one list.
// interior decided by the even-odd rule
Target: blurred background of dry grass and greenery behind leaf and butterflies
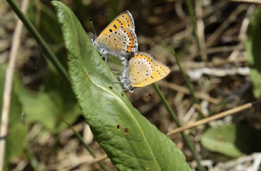
[[(6, 1), (0, 2), (2, 97), (17, 18)], [(166, 79), (159, 81), (159, 86), (183, 125), (199, 120), (198, 111), (205, 117), (212, 116), (261, 97), (261, 10), (258, 4), (196, 0), (192, 1), (191, 14), (188, 1), (181, 0), (67, 0), (63, 3), (76, 14), (90, 38), (94, 34), (90, 18), (99, 34), (117, 14), (124, 10), (131, 12), (139, 51), (150, 53), (172, 70)], [(50, 1), (30, 1), (27, 17), (66, 67), (65, 44)], [(181, 65), (194, 91), (204, 96), (198, 98), (199, 105), (194, 104), (188, 93), (172, 51), (181, 56)], [(104, 155), (81, 116), (70, 85), (45, 60), (41, 46), (26, 29), (21, 34), (18, 54), (5, 155), (8, 170), (101, 170), (60, 119), (69, 122), (98, 156)], [(107, 63), (111, 70), (122, 69), (114, 57), (109, 57)], [(163, 133), (176, 128), (153, 87), (142, 90), (153, 97), (146, 98), (139, 91), (126, 92), (141, 114)], [(0, 98), (0, 106), (2, 103)], [(185, 132), (207, 170), (253, 167), (261, 151), (260, 111), (257, 105), (209, 122), (210, 127), (201, 125)], [(177, 133), (170, 138), (183, 151), (191, 168), (196, 168), (181, 135)], [(115, 170), (109, 159), (104, 163), (109, 170)]]

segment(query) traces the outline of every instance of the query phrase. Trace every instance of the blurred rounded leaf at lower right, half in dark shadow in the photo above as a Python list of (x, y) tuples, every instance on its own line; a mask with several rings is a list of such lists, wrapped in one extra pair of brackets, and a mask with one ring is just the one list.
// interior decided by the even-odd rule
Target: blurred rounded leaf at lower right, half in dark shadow
[(229, 157), (261, 150), (261, 131), (236, 124), (209, 128), (202, 136), (204, 148)]

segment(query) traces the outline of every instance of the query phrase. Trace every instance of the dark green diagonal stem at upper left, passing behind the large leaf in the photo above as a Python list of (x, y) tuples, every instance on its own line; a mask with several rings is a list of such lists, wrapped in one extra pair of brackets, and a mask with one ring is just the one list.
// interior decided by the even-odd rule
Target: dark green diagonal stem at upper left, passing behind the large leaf
[(67, 74), (67, 71), (63, 67), (62, 64), (57, 60), (57, 57), (54, 55), (52, 50), (49, 48), (45, 40), (41, 37), (41, 35), (38, 33), (34, 25), (25, 17), (23, 12), (20, 10), (19, 6), (16, 4), (16, 2), (12, 0), (6, 0), (12, 10), (16, 13), (16, 15), (20, 18), (20, 20), (23, 22), (23, 25), (28, 29), (30, 34), (34, 37), (36, 42), (38, 43), (39, 47), (43, 48), (43, 53), (45, 53), (45, 57), (47, 57), (47, 60), (50, 60), (52, 64), (54, 64), (55, 68), (58, 70), (58, 72), (63, 75), (63, 77), (69, 82), (69, 76)]

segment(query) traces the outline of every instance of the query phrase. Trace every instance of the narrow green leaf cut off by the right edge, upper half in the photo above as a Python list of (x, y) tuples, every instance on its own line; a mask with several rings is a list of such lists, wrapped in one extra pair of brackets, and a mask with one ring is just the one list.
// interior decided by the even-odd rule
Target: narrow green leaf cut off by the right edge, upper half
[(253, 94), (261, 98), (261, 8), (257, 8), (251, 16), (247, 29), (247, 60), (253, 81)]

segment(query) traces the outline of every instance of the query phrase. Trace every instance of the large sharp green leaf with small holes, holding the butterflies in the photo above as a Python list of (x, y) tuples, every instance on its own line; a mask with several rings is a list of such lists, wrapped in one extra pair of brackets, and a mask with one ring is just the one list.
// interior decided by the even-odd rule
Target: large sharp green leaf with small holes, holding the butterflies
[(76, 16), (52, 1), (69, 58), (69, 76), (97, 142), (118, 170), (190, 170), (183, 153), (131, 105)]

